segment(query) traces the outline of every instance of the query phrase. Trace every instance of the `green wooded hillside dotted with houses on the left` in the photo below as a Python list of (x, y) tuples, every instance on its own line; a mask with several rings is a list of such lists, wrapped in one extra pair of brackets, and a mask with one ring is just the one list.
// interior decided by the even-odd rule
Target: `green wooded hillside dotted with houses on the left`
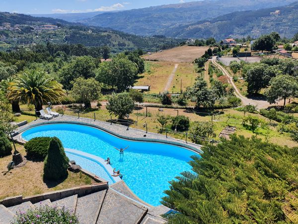
[[(47, 29), (43, 27), (45, 24), (57, 25), (58, 27)], [(0, 12), (0, 26), (0, 36), (5, 36), (4, 44), (0, 44), (0, 50), (9, 50), (21, 45), (53, 42), (83, 44), (90, 47), (107, 45), (112, 48), (113, 52), (137, 48), (156, 51), (175, 47), (182, 41), (164, 36), (141, 37), (110, 28), (86, 26), (62, 19), (33, 17), (8, 12)]]

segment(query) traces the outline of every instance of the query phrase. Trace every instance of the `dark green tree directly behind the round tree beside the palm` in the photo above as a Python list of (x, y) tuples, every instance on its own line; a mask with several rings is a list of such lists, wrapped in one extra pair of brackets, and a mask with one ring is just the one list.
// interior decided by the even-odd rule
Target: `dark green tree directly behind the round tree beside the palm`
[(95, 77), (96, 65), (90, 56), (75, 57), (59, 71), (61, 84), (66, 90), (73, 88), (72, 81), (79, 77), (84, 79)]

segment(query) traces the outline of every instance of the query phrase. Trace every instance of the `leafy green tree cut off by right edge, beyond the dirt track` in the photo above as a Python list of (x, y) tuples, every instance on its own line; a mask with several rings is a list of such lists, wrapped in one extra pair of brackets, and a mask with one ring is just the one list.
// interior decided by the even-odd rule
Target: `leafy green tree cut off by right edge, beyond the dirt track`
[(270, 81), (270, 87), (265, 92), (267, 100), (270, 104), (275, 104), (280, 100), (298, 97), (298, 81), (293, 76), (279, 75)]

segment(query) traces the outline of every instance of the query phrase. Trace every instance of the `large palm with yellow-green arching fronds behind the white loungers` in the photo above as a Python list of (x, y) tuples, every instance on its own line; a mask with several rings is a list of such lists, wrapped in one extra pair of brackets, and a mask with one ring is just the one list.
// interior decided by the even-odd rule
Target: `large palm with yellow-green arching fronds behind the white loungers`
[(33, 104), (38, 112), (47, 102), (59, 102), (64, 95), (62, 85), (48, 77), (45, 72), (32, 70), (24, 72), (16, 81), (9, 84), (7, 97)]

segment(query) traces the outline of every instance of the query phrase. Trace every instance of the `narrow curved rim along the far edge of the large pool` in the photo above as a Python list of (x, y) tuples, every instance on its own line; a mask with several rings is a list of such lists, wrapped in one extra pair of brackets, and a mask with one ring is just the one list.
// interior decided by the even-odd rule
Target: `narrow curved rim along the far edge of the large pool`
[(22, 138), (22, 135), (21, 133), (30, 129), (30, 128), (33, 128), (33, 127), (37, 127), (37, 126), (41, 126), (41, 125), (47, 125), (47, 124), (59, 124), (59, 123), (69, 123), (69, 124), (79, 124), (79, 125), (85, 125), (85, 126), (90, 126), (90, 127), (93, 127), (93, 128), (97, 128), (101, 131), (104, 131), (108, 134), (111, 134), (111, 135), (114, 135), (115, 137), (118, 137), (118, 138), (122, 138), (122, 139), (126, 139), (126, 140), (130, 140), (130, 141), (142, 141), (142, 142), (153, 142), (153, 143), (160, 143), (160, 144), (167, 144), (167, 145), (175, 145), (175, 146), (178, 146), (178, 147), (182, 147), (182, 148), (185, 148), (187, 150), (191, 150), (195, 153), (198, 153), (198, 154), (202, 154), (204, 153), (201, 149), (197, 149), (193, 146), (190, 146), (190, 145), (187, 145), (187, 144), (184, 144), (182, 142), (175, 142), (175, 141), (167, 141), (167, 140), (163, 140), (163, 139), (152, 139), (152, 138), (137, 138), (137, 137), (129, 137), (129, 136), (123, 136), (121, 134), (118, 134), (118, 133), (115, 133), (113, 131), (110, 131), (106, 128), (103, 128), (103, 127), (100, 127), (99, 125), (95, 125), (95, 124), (90, 124), (90, 123), (86, 123), (86, 122), (80, 122), (80, 121), (44, 121), (44, 122), (40, 122), (40, 123), (36, 123), (36, 124), (32, 124), (32, 125), (28, 125), (27, 127), (19, 130), (18, 132), (16, 132), (14, 134), (14, 136), (18, 135), (18, 139), (17, 140), (20, 140), (21, 142), (26, 142), (26, 140), (24, 140)]

